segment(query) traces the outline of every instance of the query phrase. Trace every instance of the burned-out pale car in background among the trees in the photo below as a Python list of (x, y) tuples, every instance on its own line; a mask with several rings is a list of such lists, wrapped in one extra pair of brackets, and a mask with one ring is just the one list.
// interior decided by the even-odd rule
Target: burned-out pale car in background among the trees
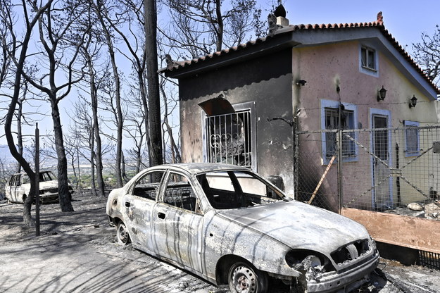
[[(8, 201), (23, 204), (30, 193), (30, 178), (26, 173), (15, 173), (6, 182), (5, 196)], [(70, 199), (73, 187), (69, 183)], [(43, 204), (58, 201), (58, 180), (49, 170), (39, 172), (39, 201)]]

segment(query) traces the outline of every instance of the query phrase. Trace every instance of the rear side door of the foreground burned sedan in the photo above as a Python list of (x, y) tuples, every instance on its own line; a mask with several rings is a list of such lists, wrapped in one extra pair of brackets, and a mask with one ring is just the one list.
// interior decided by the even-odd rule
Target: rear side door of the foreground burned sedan
[(150, 254), (154, 254), (151, 237), (151, 213), (156, 199), (161, 190), (161, 181), (164, 170), (154, 170), (141, 175), (134, 185), (127, 189), (127, 194), (122, 198), (125, 208), (125, 225), (130, 234), (132, 244)]

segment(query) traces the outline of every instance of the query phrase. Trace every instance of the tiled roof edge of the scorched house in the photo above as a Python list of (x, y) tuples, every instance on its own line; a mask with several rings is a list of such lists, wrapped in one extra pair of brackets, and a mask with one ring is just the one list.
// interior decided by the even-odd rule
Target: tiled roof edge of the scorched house
[[(439, 87), (436, 87), (431, 79), (429, 79), (428, 75), (426, 75), (422, 68), (417, 65), (417, 63), (411, 58), (411, 56), (408, 54), (408, 52), (403, 49), (401, 44), (397, 42), (397, 40), (391, 35), (391, 33), (386, 30), (384, 27), (384, 23), (382, 21), (382, 18), (374, 22), (370, 23), (334, 23), (334, 24), (308, 24), (308, 25), (289, 25), (284, 26), (282, 28), (279, 28), (273, 36), (268, 37), (261, 37), (249, 42), (246, 42), (245, 44), (239, 44), (237, 46), (232, 46), (227, 49), (223, 49), (222, 51), (216, 51), (212, 54), (208, 54), (206, 56), (201, 56), (199, 58), (194, 58), (192, 60), (188, 61), (172, 61), (172, 63), (169, 64), (167, 68), (163, 68), (161, 71), (165, 72), (167, 75), (170, 75), (172, 77), (178, 77), (180, 71), (191, 71), (192, 68), (203, 68), (208, 63), (218, 63), (222, 61), (227, 60), (228, 58), (232, 57), (232, 55), (237, 55), (240, 53), (240, 55), (246, 54), (246, 51), (260, 51), (260, 49), (256, 49), (257, 46), (265, 46), (266, 44), (274, 42), (275, 39), (281, 37), (282, 35), (287, 35), (289, 32), (294, 35), (296, 32), (307, 32), (307, 31), (331, 31), (331, 30), (364, 30), (368, 28), (374, 28), (379, 30), (379, 32), (382, 33), (382, 35), (389, 41), (391, 46), (393, 46), (397, 51), (398, 54), (400, 54), (409, 64), (412, 68), (415, 69), (417, 73), (419, 73), (422, 78), (429, 84), (432, 89), (437, 94), (440, 94)], [(286, 44), (286, 43), (284, 43)], [(300, 43), (298, 42), (290, 42), (289, 45), (296, 46)], [(277, 46), (276, 44), (271, 46), (272, 48), (274, 46)], [(285, 46), (284, 46), (285, 47)], [(279, 48), (281, 49), (281, 48)]]

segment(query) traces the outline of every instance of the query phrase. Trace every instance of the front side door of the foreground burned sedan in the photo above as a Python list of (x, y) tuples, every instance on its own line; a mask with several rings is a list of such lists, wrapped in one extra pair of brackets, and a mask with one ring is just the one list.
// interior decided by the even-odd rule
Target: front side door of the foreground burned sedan
[(156, 254), (201, 273), (203, 214), (197, 194), (185, 175), (170, 172), (163, 197), (153, 208)]

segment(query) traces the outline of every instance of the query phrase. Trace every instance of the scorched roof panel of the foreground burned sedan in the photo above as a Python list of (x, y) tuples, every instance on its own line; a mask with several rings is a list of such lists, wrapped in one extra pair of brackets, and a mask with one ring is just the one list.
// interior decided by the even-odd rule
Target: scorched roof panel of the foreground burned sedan
[(174, 169), (174, 170), (184, 170), (193, 175), (199, 173), (207, 173), (210, 171), (227, 171), (227, 170), (241, 170), (241, 171), (251, 171), (249, 168), (230, 165), (225, 163), (176, 163), (176, 164), (164, 164), (151, 167), (149, 169)]

